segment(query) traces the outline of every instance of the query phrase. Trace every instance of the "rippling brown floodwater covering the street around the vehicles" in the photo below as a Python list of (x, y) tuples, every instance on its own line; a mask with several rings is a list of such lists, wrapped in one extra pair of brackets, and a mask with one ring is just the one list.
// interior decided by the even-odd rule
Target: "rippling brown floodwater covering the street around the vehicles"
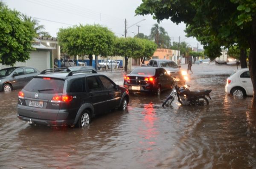
[[(29, 126), (16, 117), (18, 90), (0, 92), (0, 169), (256, 169), (252, 97), (225, 94), (234, 69), (192, 66), (190, 89), (212, 89), (209, 106), (175, 100), (162, 108), (169, 91), (136, 94), (127, 112), (96, 117), (84, 129)], [(102, 73), (122, 84), (122, 72)]]

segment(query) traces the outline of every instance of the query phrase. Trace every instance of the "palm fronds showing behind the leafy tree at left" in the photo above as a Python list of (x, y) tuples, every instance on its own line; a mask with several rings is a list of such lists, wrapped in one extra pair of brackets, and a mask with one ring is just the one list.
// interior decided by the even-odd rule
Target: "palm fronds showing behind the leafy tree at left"
[(48, 32), (43, 31), (45, 29), (44, 25), (39, 25), (38, 20), (32, 19), (32, 17), (29, 17), (26, 14), (22, 14), (22, 18), (25, 22), (32, 23), (37, 36), (50, 37), (50, 34)]

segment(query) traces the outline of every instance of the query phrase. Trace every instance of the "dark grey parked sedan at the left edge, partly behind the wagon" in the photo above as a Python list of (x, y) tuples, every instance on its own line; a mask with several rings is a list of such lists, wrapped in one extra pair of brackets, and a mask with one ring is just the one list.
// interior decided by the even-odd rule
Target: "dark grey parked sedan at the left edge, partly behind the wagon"
[(23, 88), (40, 72), (31, 67), (10, 67), (0, 70), (0, 91), (9, 92)]

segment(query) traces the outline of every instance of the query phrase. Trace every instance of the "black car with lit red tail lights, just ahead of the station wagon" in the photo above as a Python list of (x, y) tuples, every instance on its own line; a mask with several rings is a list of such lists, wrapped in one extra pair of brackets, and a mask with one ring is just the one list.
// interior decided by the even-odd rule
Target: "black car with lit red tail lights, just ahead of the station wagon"
[(129, 92), (149, 92), (161, 94), (161, 91), (172, 89), (174, 79), (163, 68), (135, 68), (124, 78), (124, 87)]

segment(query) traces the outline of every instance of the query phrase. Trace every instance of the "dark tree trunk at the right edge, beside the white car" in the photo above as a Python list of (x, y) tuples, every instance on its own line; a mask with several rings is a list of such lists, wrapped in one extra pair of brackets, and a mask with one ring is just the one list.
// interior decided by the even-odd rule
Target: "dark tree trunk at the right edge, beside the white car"
[(253, 83), (252, 109), (256, 109), (256, 17), (253, 18), (252, 36), (250, 37), (249, 71)]

